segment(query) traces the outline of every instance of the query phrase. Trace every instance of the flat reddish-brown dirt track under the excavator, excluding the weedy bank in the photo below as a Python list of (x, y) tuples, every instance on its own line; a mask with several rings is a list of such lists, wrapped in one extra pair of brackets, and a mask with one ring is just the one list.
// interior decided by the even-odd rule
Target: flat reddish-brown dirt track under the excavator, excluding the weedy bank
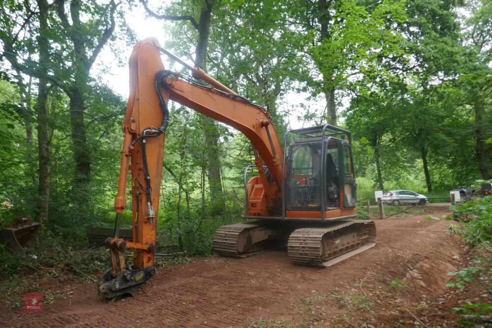
[(431, 296), (440, 295), (462, 247), (447, 233), (449, 222), (425, 217), (376, 220), (377, 245), (331, 268), (293, 266), (284, 251), (246, 259), (213, 256), (161, 268), (139, 296), (110, 304), (98, 299), (94, 284), (66, 286), (72, 297), (45, 304), (41, 313), (0, 308), (0, 326), (244, 327), (259, 318), (292, 318), (292, 304), (313, 291), (326, 293), (374, 273), (403, 278), (429, 260), (445, 265), (431, 269), (444, 275), (442, 281), (422, 278)]

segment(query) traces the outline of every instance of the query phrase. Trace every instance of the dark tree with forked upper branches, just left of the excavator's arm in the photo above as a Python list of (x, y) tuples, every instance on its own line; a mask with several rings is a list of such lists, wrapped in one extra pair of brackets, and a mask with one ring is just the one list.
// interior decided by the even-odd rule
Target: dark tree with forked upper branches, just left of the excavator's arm
[(75, 188), (87, 188), (87, 184), (91, 181), (91, 151), (87, 145), (84, 122), (85, 93), (90, 80), (89, 73), (97, 56), (115, 30), (114, 16), (117, 8), (115, 1), (110, 0), (105, 5), (93, 2), (92, 5), (91, 8), (81, 0), (71, 0), (70, 24), (65, 12), (65, 0), (56, 0), (62, 27), (60, 32), (62, 36), (67, 36), (62, 42), (63, 44), (67, 41), (71, 42), (70, 45), (66, 45), (65, 56), (70, 58), (72, 65), (60, 73), (64, 77), (61, 87), (70, 98)]

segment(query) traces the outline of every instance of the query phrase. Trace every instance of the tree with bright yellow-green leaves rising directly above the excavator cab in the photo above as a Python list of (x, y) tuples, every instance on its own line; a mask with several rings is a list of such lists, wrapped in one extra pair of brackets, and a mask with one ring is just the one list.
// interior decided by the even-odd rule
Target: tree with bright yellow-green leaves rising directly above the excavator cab
[(336, 91), (349, 79), (376, 75), (379, 62), (401, 54), (395, 23), (406, 21), (402, 1), (298, 1), (292, 6), (295, 25), (302, 30), (307, 55), (321, 78), (307, 77), (315, 93), (326, 99), (326, 117), (337, 122)]

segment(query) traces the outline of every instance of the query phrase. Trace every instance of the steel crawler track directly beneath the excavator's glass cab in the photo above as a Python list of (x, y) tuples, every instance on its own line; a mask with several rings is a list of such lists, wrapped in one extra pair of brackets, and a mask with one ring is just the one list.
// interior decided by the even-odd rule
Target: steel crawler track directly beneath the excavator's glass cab
[(376, 244), (373, 221), (339, 221), (328, 227), (294, 230), (287, 246), (292, 263), (326, 268)]

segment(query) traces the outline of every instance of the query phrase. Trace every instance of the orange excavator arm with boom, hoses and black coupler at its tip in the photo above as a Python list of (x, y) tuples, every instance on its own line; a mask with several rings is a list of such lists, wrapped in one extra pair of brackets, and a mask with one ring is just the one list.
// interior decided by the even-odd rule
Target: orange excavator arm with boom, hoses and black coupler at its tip
[[(133, 48), (129, 60), (130, 96), (123, 121), (123, 149), (115, 199), (115, 234), (106, 240), (111, 250), (112, 268), (99, 280), (99, 293), (105, 298), (133, 294), (155, 273), (154, 252), (165, 131), (169, 123), (167, 102), (176, 101), (203, 115), (241, 131), (251, 141), (259, 176), (251, 188), (259, 201), (254, 215), (281, 211), (283, 149), (269, 114), (223, 86), (200, 68), (192, 75), (198, 82), (164, 69), (157, 39), (147, 38)], [(176, 58), (175, 58), (176, 59)], [(177, 59), (179, 60), (179, 59)], [(267, 173), (263, 166), (270, 172)], [(131, 171), (133, 242), (119, 237), (120, 222), (126, 208), (128, 171)], [(256, 205), (255, 204), (255, 205)], [(125, 255), (125, 249), (133, 253)], [(133, 265), (127, 265), (133, 258)]]

